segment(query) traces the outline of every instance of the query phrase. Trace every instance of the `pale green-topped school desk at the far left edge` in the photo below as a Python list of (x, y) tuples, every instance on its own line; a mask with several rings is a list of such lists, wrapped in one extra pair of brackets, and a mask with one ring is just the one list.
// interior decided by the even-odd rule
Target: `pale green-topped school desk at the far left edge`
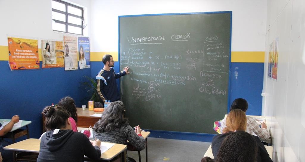
[[(4, 122), (10, 122), (11, 119), (0, 119), (1, 124)], [(15, 139), (21, 136), (27, 135), (27, 138), (29, 138), (29, 127), (28, 125), (31, 124), (31, 121), (22, 120), (20, 127), (13, 127), (9, 133), (5, 134), (4, 136), (1, 136), (1, 138), (10, 138), (12, 139), (13, 143), (15, 143)], [(20, 129), (22, 127), (26, 127), (27, 129)]]

